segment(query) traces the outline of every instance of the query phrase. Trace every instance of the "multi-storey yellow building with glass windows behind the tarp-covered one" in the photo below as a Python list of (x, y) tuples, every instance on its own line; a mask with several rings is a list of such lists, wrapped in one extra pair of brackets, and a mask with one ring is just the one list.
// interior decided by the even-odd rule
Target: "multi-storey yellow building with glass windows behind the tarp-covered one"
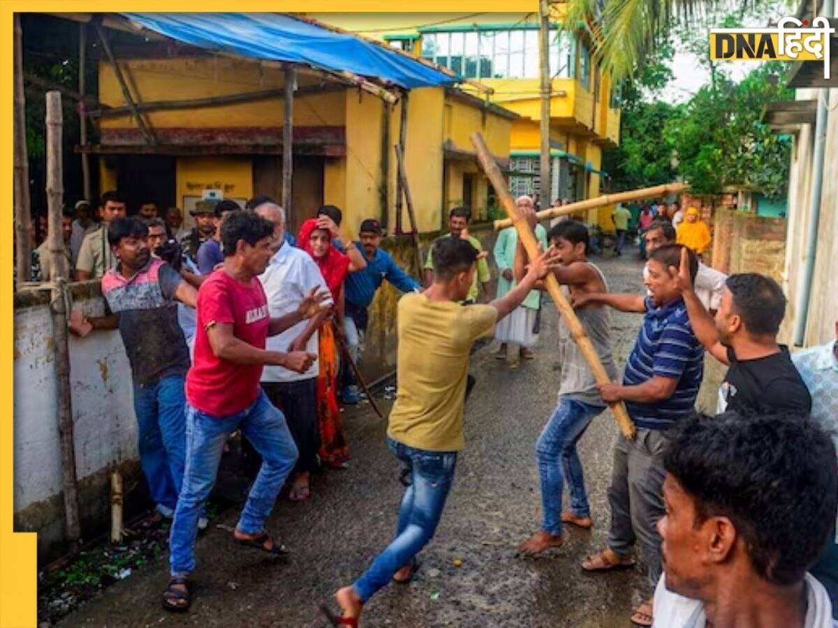
[[(620, 111), (616, 90), (591, 54), (586, 28), (561, 33), (564, 6), (553, 5), (550, 69), (552, 180), (556, 198), (600, 194), (603, 149), (617, 147)], [(318, 13), (318, 20), (445, 66), (494, 90), (489, 98), (519, 114), (513, 122), (510, 187), (514, 195), (539, 193), (541, 104), (537, 13)], [(468, 85), (464, 86), (468, 90)], [(479, 94), (478, 90), (475, 93)], [(485, 97), (485, 96), (483, 96)], [(611, 209), (599, 222), (613, 229)], [(597, 219), (592, 212), (589, 220)]]

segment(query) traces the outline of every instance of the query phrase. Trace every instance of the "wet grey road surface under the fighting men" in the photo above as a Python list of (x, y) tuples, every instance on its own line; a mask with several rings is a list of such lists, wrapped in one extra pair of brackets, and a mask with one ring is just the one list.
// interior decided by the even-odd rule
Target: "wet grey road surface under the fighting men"
[[(641, 264), (634, 255), (597, 263), (612, 291), (641, 291)], [(557, 320), (555, 307), (546, 303), (535, 360), (519, 368), (495, 360), (494, 343), (474, 354), (477, 385), (466, 407), (466, 449), (437, 535), (421, 554), (416, 579), (382, 589), (366, 605), (363, 625), (632, 625), (629, 615), (643, 593), (644, 569), (584, 574), (579, 566), (604, 547), (608, 533), (608, 480), (618, 434), (609, 413), (592, 422), (580, 444), (594, 528), (568, 529), (565, 546), (542, 558), (515, 555), (517, 544), (538, 528), (535, 440), (556, 404)], [(620, 367), (640, 320), (613, 315)], [(379, 403), (386, 410), (391, 402)], [(60, 625), (327, 625), (318, 616), (318, 602), (351, 583), (391, 540), (403, 491), (400, 466), (385, 447), (385, 422), (361, 406), (344, 414), (344, 425), (349, 470), (320, 476), (308, 502), (283, 497), (267, 523), (292, 549), (289, 564), (273, 564), (236, 546), (230, 530), (238, 512), (231, 509), (199, 538), (188, 615), (170, 615), (160, 607), (168, 578), (163, 558), (106, 589)]]

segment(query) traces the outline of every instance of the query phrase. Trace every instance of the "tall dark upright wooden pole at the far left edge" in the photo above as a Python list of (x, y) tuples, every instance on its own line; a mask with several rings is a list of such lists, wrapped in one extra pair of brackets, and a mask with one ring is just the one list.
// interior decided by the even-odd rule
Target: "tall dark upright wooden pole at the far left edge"
[(29, 161), (26, 151), (26, 97), (23, 95), (23, 29), (14, 14), (14, 247), (18, 284), (32, 276), (29, 242)]

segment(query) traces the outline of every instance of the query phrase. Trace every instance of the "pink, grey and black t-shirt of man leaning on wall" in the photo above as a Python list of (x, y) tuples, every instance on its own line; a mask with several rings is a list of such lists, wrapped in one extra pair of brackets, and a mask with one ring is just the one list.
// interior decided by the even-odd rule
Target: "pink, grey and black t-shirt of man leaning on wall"
[(189, 349), (174, 300), (181, 281), (163, 260), (149, 261), (128, 279), (119, 265), (102, 277), (102, 295), (116, 314), (135, 383), (149, 385), (189, 370)]

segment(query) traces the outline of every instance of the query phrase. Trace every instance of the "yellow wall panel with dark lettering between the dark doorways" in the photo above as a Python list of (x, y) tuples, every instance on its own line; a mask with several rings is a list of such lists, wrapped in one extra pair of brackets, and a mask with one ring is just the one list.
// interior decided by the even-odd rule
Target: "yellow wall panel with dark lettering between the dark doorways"
[(250, 157), (178, 157), (176, 203), (184, 208), (185, 226), (194, 224), (185, 211), (184, 197), (200, 197), (204, 189), (220, 189), (225, 198), (253, 197), (253, 167)]

